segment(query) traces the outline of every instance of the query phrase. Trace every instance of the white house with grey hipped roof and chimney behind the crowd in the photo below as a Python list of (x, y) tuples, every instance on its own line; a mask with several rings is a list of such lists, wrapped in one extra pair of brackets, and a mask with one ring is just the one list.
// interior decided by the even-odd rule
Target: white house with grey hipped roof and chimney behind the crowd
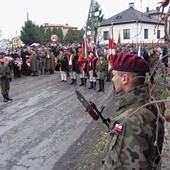
[(101, 23), (98, 33), (101, 36), (101, 44), (108, 44), (110, 35), (113, 33), (114, 42), (117, 43), (120, 34), (121, 44), (155, 45), (163, 43), (164, 22), (157, 18), (134, 9), (134, 3), (129, 8), (120, 12)]

